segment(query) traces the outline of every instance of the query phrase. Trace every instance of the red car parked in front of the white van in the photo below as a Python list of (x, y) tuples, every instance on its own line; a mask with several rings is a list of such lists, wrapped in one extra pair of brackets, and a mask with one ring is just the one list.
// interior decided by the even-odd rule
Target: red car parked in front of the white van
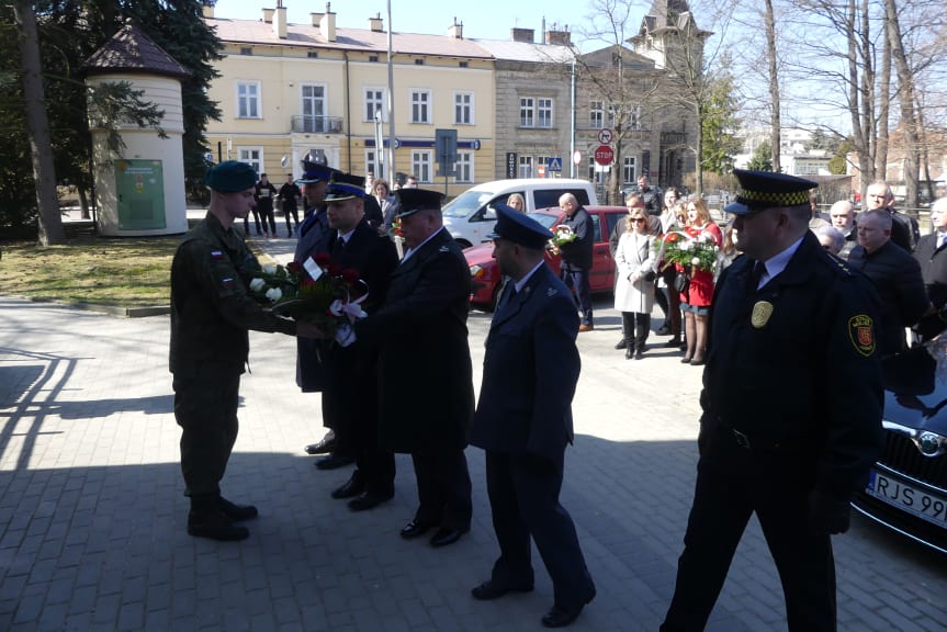
[[(585, 210), (591, 217), (593, 230), (596, 236), (593, 247), (591, 274), (589, 275), (591, 291), (593, 293), (611, 292), (615, 286), (615, 261), (608, 251), (608, 237), (615, 225), (628, 215), (628, 210), (624, 206), (586, 206)], [(564, 219), (565, 214), (553, 206), (534, 211), (529, 216), (552, 230)], [(470, 266), (473, 281), (471, 303), (481, 309), (493, 309), (503, 280), (496, 259), (493, 258), (493, 242), (486, 241), (466, 248), (464, 257), (466, 257), (467, 266)], [(545, 259), (553, 271), (559, 274), (559, 255), (553, 255), (546, 250)]]

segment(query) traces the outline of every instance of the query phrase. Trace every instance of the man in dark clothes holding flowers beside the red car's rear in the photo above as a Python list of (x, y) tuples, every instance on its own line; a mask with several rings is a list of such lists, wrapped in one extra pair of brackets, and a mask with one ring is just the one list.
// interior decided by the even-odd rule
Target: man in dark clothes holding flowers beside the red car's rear
[(595, 249), (595, 238), (591, 217), (578, 203), (575, 195), (564, 193), (559, 199), (559, 207), (565, 213), (562, 225), (568, 226), (575, 239), (559, 247), (562, 253), (560, 276), (565, 286), (575, 292), (576, 303), (580, 312), (579, 331), (591, 331), (591, 258)]

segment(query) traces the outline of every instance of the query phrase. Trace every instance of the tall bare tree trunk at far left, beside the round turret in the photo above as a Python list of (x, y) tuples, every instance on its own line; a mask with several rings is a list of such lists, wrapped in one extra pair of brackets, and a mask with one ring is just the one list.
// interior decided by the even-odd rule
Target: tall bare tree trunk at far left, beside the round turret
[(20, 31), (20, 58), (23, 68), (23, 100), (26, 106), (26, 128), (33, 156), (33, 178), (36, 182), (36, 202), (40, 207), (40, 244), (63, 244), (66, 233), (59, 215), (56, 194), (56, 168), (53, 165), (53, 144), (49, 139), (49, 121), (43, 91), (40, 60), (40, 36), (33, 4), (20, 1), (13, 5), (13, 19)]

